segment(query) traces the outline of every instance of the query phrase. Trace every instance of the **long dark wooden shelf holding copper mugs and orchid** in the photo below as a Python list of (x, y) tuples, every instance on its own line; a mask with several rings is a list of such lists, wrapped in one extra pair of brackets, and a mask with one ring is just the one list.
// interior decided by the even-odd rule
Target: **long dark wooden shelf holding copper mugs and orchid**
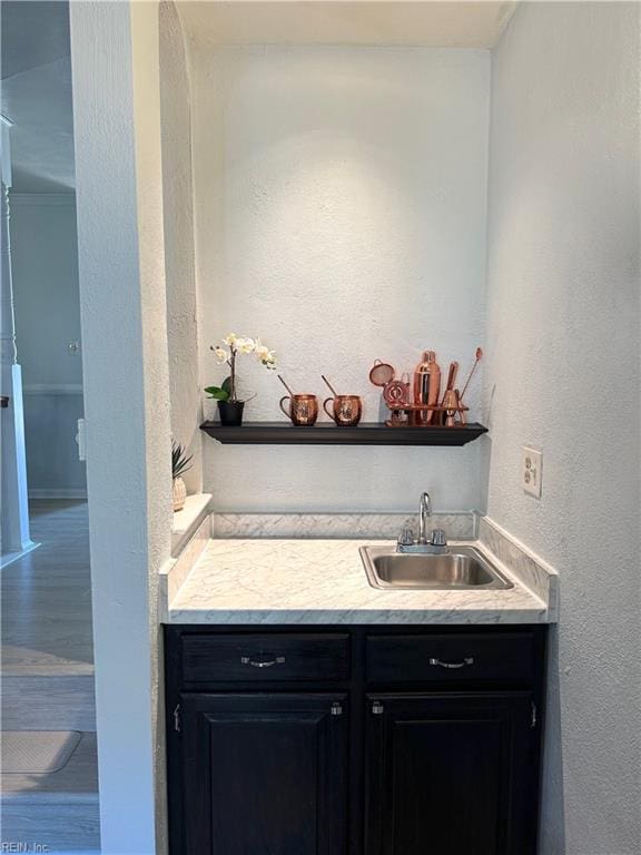
[(223, 428), (204, 422), (200, 430), (226, 445), (466, 445), (487, 428), (472, 422), (460, 428), (387, 428), (362, 423), (338, 428), (329, 422), (313, 428), (296, 428), (288, 422), (246, 422), (240, 428)]

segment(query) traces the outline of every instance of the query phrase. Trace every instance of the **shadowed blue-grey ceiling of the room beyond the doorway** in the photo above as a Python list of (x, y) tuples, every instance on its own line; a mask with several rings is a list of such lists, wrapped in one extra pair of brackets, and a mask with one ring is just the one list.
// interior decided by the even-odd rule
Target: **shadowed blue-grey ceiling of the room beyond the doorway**
[(0, 111), (12, 122), (13, 190), (75, 187), (67, 2), (2, 0)]

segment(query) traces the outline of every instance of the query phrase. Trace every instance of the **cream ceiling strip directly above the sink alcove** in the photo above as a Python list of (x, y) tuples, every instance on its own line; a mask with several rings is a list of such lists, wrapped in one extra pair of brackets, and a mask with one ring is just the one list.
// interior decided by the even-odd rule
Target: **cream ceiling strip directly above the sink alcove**
[(491, 48), (515, 0), (179, 0), (185, 29), (211, 45), (372, 45)]

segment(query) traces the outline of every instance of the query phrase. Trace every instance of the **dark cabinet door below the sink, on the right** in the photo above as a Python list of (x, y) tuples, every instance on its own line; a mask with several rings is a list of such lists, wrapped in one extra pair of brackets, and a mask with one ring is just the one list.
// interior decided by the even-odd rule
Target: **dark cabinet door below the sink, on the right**
[(527, 855), (529, 692), (371, 695), (366, 855)]

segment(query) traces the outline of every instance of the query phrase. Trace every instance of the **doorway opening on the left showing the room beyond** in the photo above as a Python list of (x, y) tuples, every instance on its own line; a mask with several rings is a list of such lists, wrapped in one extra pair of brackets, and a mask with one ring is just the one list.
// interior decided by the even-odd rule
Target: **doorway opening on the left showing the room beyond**
[(68, 3), (2, 3), (1, 38), (2, 334), (24, 472), (2, 515), (23, 505), (30, 543), (0, 574), (0, 848), (99, 852)]

